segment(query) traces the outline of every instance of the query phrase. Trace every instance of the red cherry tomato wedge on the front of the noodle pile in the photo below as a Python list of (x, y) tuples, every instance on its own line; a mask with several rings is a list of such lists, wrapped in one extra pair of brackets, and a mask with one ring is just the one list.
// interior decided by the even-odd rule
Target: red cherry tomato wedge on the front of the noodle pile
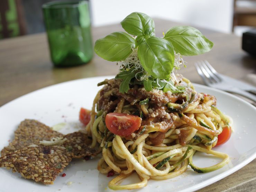
[(140, 128), (141, 121), (140, 117), (126, 113), (108, 113), (105, 120), (108, 130), (119, 136), (131, 135)]

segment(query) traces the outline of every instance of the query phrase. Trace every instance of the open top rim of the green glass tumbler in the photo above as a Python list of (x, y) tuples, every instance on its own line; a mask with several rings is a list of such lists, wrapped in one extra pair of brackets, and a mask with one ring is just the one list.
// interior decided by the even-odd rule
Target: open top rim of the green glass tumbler
[(42, 5), (43, 9), (60, 9), (60, 8), (75, 8), (84, 4), (88, 4), (86, 0), (77, 0), (77, 1), (70, 1), (70, 0), (60, 0), (60, 1), (52, 1), (48, 3), (44, 3)]

